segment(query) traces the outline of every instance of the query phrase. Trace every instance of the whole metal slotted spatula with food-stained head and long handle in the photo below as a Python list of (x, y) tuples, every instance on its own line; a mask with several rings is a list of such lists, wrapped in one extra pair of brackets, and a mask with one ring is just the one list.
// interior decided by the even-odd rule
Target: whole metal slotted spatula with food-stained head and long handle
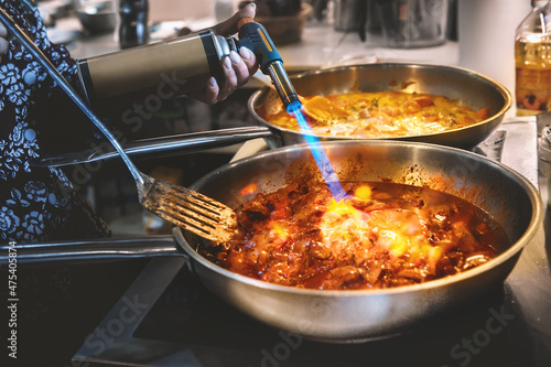
[(0, 19), (8, 31), (18, 37), (46, 69), (50, 76), (115, 147), (136, 181), (138, 198), (143, 208), (212, 241), (224, 242), (231, 238), (237, 228), (236, 214), (231, 208), (192, 190), (153, 179), (140, 172), (111, 132), (94, 115), (63, 75), (61, 75), (3, 9), (0, 9)]

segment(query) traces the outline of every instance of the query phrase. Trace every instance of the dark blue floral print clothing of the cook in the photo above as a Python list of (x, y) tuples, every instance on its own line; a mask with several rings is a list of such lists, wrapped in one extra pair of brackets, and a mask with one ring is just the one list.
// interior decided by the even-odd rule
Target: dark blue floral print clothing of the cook
[[(37, 10), (19, 0), (0, 0), (0, 7), (78, 88), (75, 61), (64, 46), (48, 41)], [(58, 125), (69, 123), (83, 130), (78, 123), (84, 123), (33, 56), (14, 36), (9, 41), (8, 53), (0, 55), (0, 242), (107, 236), (106, 225), (62, 170), (31, 164), (42, 153), (46, 129), (57, 131)], [(51, 145), (69, 143), (63, 133), (55, 134)]]

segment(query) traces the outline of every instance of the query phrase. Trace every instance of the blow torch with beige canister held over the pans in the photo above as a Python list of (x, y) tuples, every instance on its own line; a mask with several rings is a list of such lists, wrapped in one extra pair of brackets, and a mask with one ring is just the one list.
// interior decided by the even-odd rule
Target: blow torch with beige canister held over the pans
[[(231, 50), (252, 51), (260, 71), (268, 75), (285, 108), (299, 102), (283, 60), (266, 29), (250, 18), (238, 24), (239, 40), (215, 35), (210, 30), (78, 60), (78, 77), (86, 98), (99, 114), (160, 108), (162, 99), (197, 91), (210, 76), (224, 85), (222, 60)], [(296, 105), (296, 104), (295, 104)]]

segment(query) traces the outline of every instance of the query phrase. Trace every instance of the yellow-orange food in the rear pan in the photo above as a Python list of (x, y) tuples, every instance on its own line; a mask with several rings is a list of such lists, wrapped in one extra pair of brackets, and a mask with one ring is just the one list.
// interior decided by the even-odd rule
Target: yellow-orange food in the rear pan
[[(307, 122), (318, 136), (365, 139), (421, 136), (467, 127), (488, 115), (486, 108), (474, 110), (457, 100), (431, 94), (357, 91), (301, 98)], [(300, 130), (283, 106), (260, 115), (281, 128)]]

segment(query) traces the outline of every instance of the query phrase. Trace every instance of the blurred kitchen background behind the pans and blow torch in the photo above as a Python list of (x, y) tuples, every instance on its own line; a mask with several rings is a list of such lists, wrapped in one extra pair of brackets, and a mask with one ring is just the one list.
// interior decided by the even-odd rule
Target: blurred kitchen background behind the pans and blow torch
[[(75, 58), (120, 48), (118, 1), (42, 0), (37, 6), (56, 43)], [(133, 0), (137, 3), (144, 0)], [(194, 32), (229, 18), (238, 0), (149, 0), (149, 42)], [(257, 0), (256, 21), (274, 40), (289, 74), (377, 62), (463, 66), (514, 88), (515, 28), (530, 10), (529, 0)], [(261, 76), (225, 101), (207, 106), (187, 97), (163, 100), (130, 140), (256, 125), (247, 110)], [(139, 168), (164, 180), (190, 185), (229, 162), (239, 145), (163, 159), (142, 159)], [(91, 174), (66, 169), (115, 235), (164, 233), (158, 218), (143, 213), (127, 170), (112, 160)]]

